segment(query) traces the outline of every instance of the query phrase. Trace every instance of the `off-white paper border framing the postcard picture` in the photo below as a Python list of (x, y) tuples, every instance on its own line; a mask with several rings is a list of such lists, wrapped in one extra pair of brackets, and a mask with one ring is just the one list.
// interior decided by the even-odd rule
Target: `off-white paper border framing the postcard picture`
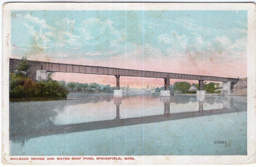
[[(248, 55), (247, 55), (247, 155), (224, 156), (133, 156), (135, 161), (117, 161), (114, 164), (251, 164), (255, 163), (255, 92), (256, 92), (256, 17), (253, 3), (9, 3), (3, 7), (3, 115), (2, 115), (2, 162), (31, 164), (25, 161), (9, 160), (9, 55), (10, 11), (11, 10), (247, 10), (248, 13)], [(9, 35), (8, 35), (9, 34)], [(33, 156), (26, 156), (33, 157)], [(38, 157), (38, 156), (34, 156)], [(47, 156), (44, 156), (47, 157)], [(57, 157), (57, 156), (50, 156)], [(74, 156), (72, 156), (74, 157)], [(79, 156), (78, 156), (79, 157)], [(124, 157), (124, 156), (120, 156)], [(106, 164), (111, 161), (86, 161), (87, 164)], [(84, 161), (33, 161), (32, 164), (84, 164)]]

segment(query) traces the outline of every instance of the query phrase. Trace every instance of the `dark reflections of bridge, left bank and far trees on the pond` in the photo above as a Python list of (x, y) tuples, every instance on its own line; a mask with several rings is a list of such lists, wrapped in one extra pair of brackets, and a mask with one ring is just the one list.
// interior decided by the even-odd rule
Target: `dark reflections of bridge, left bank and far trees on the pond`
[[(109, 94), (105, 95), (105, 97), (100, 96), (100, 98), (95, 98), (96, 95), (90, 94), (90, 96), (80, 99), (80, 100), (63, 100), (59, 101), (51, 101), (50, 103), (46, 101), (42, 102), (20, 102), (16, 103), (16, 105), (12, 106), (12, 110), (10, 110), (10, 139), (17, 141), (20, 140), (28, 140), (29, 138), (34, 138), (38, 136), (44, 135), (52, 135), (52, 134), (61, 134), (61, 133), (70, 133), (70, 132), (78, 132), (78, 131), (90, 131), (96, 129), (105, 129), (105, 128), (113, 128), (118, 126), (127, 126), (141, 123), (153, 123), (153, 122), (161, 122), (168, 121), (174, 119), (185, 119), (191, 117), (199, 117), (205, 115), (215, 115), (215, 114), (224, 114), (229, 112), (236, 112), (237, 110), (231, 111), (227, 110), (230, 108), (230, 97), (222, 97), (223, 108), (212, 108), (204, 111), (204, 103), (210, 103), (213, 98), (208, 98), (204, 100), (200, 100), (196, 102), (195, 98), (184, 98), (184, 96), (174, 96), (174, 97), (157, 97), (151, 96), (146, 99), (159, 99), (164, 104), (163, 114), (157, 115), (148, 115), (148, 116), (139, 116), (139, 117), (130, 117), (121, 119), (120, 117), (120, 105), (122, 104), (123, 98), (113, 98), (109, 96)], [(145, 98), (145, 97), (144, 97)], [(64, 125), (56, 125), (54, 124), (54, 118), (58, 115), (56, 111), (64, 111), (67, 106), (79, 105), (81, 103), (97, 103), (101, 102), (99, 100), (111, 101), (114, 99), (114, 104), (116, 105), (116, 115), (114, 119), (108, 120), (95, 120), (92, 122), (86, 123), (72, 123), (72, 124), (64, 124)], [(125, 98), (124, 98), (125, 99)], [(132, 97), (128, 97), (130, 101), (132, 101)], [(195, 102), (199, 104), (198, 111), (187, 111), (187, 112), (178, 112), (170, 114), (170, 103), (178, 103), (184, 104), (183, 99), (186, 99), (186, 103)], [(220, 102), (221, 99), (215, 100), (215, 102)], [(37, 106), (39, 103), (39, 106)], [(15, 104), (15, 103), (13, 103)], [(19, 104), (23, 106), (29, 105), (30, 110), (21, 110)], [(227, 107), (228, 106), (228, 107)], [(172, 109), (172, 108), (171, 108)], [(204, 111), (204, 113), (202, 113)], [(17, 113), (18, 112), (18, 113)], [(200, 113), (201, 112), (201, 113)], [(131, 115), (132, 116), (132, 115)], [(163, 117), (164, 116), (164, 117)], [(143, 119), (142, 119), (143, 118)], [(117, 121), (119, 120), (119, 121)], [(21, 137), (21, 138), (20, 138)]]

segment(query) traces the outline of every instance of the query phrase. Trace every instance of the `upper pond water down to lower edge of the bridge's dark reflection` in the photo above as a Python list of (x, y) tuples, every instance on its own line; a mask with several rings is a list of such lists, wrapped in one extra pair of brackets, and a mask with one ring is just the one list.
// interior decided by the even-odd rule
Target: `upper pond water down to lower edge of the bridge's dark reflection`
[(113, 98), (108, 93), (71, 93), (70, 96), (73, 99), (10, 102), (10, 140), (24, 146), (29, 139), (42, 136), (246, 111), (246, 97), (235, 96)]

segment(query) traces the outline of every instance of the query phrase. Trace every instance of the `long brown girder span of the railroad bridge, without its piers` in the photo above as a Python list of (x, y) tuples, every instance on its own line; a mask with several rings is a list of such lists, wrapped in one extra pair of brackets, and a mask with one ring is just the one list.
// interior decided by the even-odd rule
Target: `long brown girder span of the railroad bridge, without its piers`
[(143, 70), (133, 70), (133, 69), (123, 69), (123, 68), (85, 66), (85, 65), (53, 63), (53, 62), (33, 61), (33, 60), (28, 60), (28, 61), (40, 63), (42, 66), (42, 69), (49, 72), (135, 76), (135, 77), (150, 77), (150, 78), (172, 78), (172, 79), (220, 81), (220, 82), (235, 82), (235, 83), (239, 80), (238, 78), (227, 78), (227, 77), (217, 77), (217, 76), (177, 74), (177, 73), (166, 73), (166, 72), (157, 72), (157, 71), (143, 71)]

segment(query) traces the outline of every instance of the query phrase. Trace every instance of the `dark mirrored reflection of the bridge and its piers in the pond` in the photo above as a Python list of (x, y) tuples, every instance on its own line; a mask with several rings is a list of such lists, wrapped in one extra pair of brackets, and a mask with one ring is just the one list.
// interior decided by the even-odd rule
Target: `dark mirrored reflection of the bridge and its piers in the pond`
[[(142, 123), (157, 123), (157, 122), (163, 122), (163, 121), (202, 117), (207, 115), (219, 115), (219, 114), (226, 114), (226, 113), (241, 111), (236, 108), (236, 105), (234, 104), (234, 100), (231, 97), (224, 97), (224, 98), (214, 99), (215, 102), (222, 102), (223, 108), (204, 110), (204, 105), (207, 103), (207, 100), (197, 99), (197, 103), (198, 103), (197, 111), (172, 113), (171, 111), (172, 107), (170, 106), (170, 103), (175, 103), (175, 100), (177, 100), (177, 98), (161, 97), (160, 100), (164, 105), (163, 114), (121, 119), (120, 105), (122, 105), (122, 100), (123, 98), (114, 98), (114, 104), (116, 105), (115, 119), (93, 121), (93, 122), (86, 122), (86, 123), (56, 125), (52, 121), (52, 119), (57, 115), (56, 112), (53, 112), (54, 110), (48, 111), (48, 112), (44, 111), (46, 113), (44, 113), (43, 115), (38, 115), (38, 113), (37, 114), (33, 113), (35, 114), (35, 116), (34, 116), (34, 119), (32, 118), (32, 120), (31, 120), (31, 115), (29, 114), (28, 114), (29, 116), (25, 115), (17, 119), (17, 115), (14, 115), (14, 113), (10, 112), (10, 140), (14, 142), (24, 143), (28, 139), (36, 138), (40, 136), (46, 136), (46, 135), (65, 134), (65, 133), (73, 133), (73, 132), (81, 132), (81, 131), (92, 131), (92, 130), (99, 130), (99, 129), (115, 128), (120, 126), (136, 125), (136, 124), (142, 124)], [(192, 100), (195, 101), (195, 99), (192, 99)], [(211, 99), (210, 101), (214, 101), (214, 100)], [(69, 100), (66, 100), (66, 101), (69, 101)], [(84, 102), (84, 100), (82, 100), (82, 102)], [(58, 103), (52, 104), (52, 107), (53, 106), (56, 107), (56, 105), (58, 105)], [(233, 107), (232, 109), (231, 109), (231, 106)], [(16, 120), (16, 121), (13, 122), (13, 120)], [(46, 122), (40, 123), (40, 121), (42, 120), (46, 120)]]

